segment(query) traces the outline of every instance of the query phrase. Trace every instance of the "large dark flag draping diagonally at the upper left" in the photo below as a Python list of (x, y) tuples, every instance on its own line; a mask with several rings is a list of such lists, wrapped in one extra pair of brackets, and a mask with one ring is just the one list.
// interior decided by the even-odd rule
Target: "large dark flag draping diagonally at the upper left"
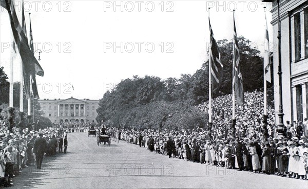
[[(10, 22), (11, 22), (11, 29), (14, 36), (14, 40), (17, 44), (18, 51), (20, 52), (22, 61), (23, 61), (23, 68), (24, 68), (24, 85), (27, 94), (27, 98), (29, 98), (30, 94), (30, 75), (35, 72), (35, 64), (40, 65), (36, 58), (34, 57), (33, 53), (31, 52), (28, 40), (25, 36), (25, 33), (18, 21), (14, 4), (11, 0), (5, 0), (6, 3), (6, 10), (8, 11)], [(3, 6), (3, 4), (1, 4)], [(40, 76), (44, 76), (44, 72), (37, 73)], [(25, 76), (26, 75), (26, 76)]]

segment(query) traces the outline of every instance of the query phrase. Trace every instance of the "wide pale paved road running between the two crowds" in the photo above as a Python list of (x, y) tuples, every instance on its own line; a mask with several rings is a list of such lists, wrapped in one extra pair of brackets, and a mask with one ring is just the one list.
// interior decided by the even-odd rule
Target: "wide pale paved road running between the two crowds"
[(68, 153), (24, 169), (14, 188), (307, 188), (307, 181), (237, 172), (155, 154), (123, 141), (97, 146), (95, 137), (69, 133)]

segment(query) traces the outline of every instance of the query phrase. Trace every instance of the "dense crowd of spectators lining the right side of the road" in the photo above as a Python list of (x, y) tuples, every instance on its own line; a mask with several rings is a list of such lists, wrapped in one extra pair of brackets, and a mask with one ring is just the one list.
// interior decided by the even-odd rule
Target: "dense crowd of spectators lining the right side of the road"
[[(268, 106), (268, 124), (264, 134), (263, 94), (245, 93), (246, 104), (237, 107), (235, 132), (232, 133), (231, 96), (213, 100), (213, 127), (211, 130), (145, 129), (128, 130), (107, 128), (115, 141), (126, 141), (140, 147), (201, 164), (275, 174), (282, 177), (307, 179), (308, 122), (286, 122), (284, 133), (278, 134), (274, 109)], [(200, 105), (206, 110), (207, 103)]]

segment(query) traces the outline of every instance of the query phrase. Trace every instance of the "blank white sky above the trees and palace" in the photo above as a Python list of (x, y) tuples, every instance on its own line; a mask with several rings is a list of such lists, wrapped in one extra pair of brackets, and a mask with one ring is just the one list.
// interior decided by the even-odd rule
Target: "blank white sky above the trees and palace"
[[(15, 1), (20, 22), (21, 5)], [(237, 35), (252, 41), (262, 56), (264, 12), (273, 41), (271, 7), (261, 0), (24, 1), (28, 38), (31, 13), (34, 50), (42, 51), (45, 75), (36, 76), (40, 99), (98, 100), (134, 75), (179, 79), (194, 74), (208, 59), (209, 12), (215, 39), (230, 40), (235, 9)], [(8, 13), (1, 8), (0, 66), (11, 77), (14, 57), (15, 82), (21, 80), (21, 58), (11, 52), (12, 41)], [(38, 51), (34, 55), (38, 59)]]

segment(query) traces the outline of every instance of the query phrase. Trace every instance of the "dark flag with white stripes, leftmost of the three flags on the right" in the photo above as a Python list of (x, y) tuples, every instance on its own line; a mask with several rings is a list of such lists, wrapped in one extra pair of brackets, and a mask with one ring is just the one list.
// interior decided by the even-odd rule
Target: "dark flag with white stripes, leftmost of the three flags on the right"
[(210, 59), (211, 67), (211, 82), (213, 84), (213, 91), (216, 92), (219, 89), (219, 85), (221, 84), (222, 77), (223, 77), (223, 65), (220, 61), (220, 52), (218, 49), (217, 42), (214, 38), (214, 33), (210, 25), (210, 20), (208, 17), (208, 23), (209, 23), (209, 31), (210, 31)]

